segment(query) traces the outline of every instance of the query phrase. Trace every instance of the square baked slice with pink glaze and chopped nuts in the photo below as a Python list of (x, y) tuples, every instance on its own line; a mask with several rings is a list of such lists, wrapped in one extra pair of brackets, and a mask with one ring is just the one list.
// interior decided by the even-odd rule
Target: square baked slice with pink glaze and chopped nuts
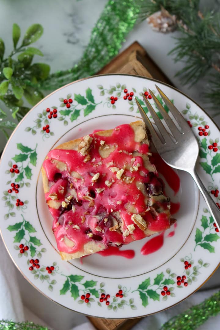
[(170, 228), (170, 200), (149, 156), (142, 121), (86, 135), (48, 153), (43, 185), (62, 259)]

